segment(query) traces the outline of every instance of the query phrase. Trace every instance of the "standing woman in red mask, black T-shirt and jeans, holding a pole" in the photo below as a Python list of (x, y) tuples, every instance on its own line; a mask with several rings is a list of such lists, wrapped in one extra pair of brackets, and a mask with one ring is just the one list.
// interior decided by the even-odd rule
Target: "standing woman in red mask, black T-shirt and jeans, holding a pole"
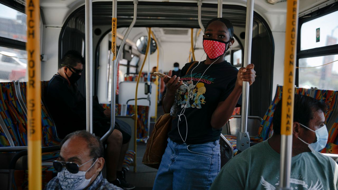
[(180, 76), (169, 78), (169, 71), (163, 78), (164, 109), (176, 117), (153, 190), (209, 189), (220, 171), (221, 128), (241, 104), (243, 81), (251, 85), (256, 73), (253, 64), (238, 70), (224, 60), (233, 33), (229, 20), (210, 20), (203, 35), (207, 60), (187, 63)]

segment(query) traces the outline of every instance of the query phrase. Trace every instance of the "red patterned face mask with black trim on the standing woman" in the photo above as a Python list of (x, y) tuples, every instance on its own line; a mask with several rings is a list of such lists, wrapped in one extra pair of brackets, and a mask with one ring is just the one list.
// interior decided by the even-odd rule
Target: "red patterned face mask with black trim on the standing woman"
[(231, 40), (223, 42), (221, 40), (203, 38), (203, 49), (208, 57), (211, 60), (214, 60), (223, 55), (225, 51), (229, 49), (229, 47), (226, 49), (226, 44), (230, 43), (230, 41)]

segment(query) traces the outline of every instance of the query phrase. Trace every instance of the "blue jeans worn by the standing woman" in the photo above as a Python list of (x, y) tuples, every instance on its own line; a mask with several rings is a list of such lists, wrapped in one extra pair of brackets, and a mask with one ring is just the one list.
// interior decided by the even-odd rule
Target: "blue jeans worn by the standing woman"
[(219, 140), (168, 145), (153, 190), (208, 190), (221, 168)]

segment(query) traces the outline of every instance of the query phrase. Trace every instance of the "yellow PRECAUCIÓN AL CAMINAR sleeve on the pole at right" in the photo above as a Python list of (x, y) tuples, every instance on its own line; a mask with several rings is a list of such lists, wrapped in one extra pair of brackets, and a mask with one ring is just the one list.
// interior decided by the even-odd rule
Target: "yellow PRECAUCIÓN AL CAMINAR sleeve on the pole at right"
[(287, 1), (281, 134), (292, 135), (298, 1)]

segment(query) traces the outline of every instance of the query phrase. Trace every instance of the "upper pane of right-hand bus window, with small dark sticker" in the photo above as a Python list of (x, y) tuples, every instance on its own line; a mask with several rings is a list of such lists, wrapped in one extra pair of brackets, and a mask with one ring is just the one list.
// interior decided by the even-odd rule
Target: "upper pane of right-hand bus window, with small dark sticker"
[(300, 50), (338, 44), (338, 10), (310, 20), (300, 28)]

